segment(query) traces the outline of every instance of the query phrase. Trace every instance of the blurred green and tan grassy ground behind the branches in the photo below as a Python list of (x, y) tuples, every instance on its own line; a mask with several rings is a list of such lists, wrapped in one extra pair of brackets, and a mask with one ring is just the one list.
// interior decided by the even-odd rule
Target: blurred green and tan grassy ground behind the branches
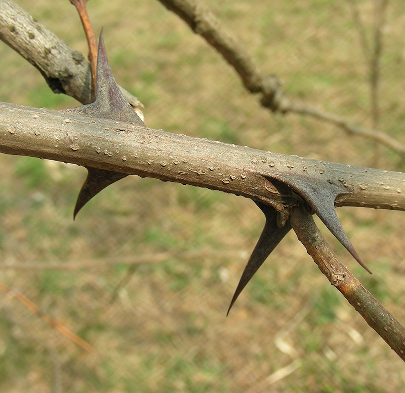
[[(205, 0), (264, 74), (281, 78), (291, 100), (378, 128), (405, 145), (405, 3), (385, 2), (377, 12), (385, 19), (376, 23), (379, 3)], [(68, 0), (17, 4), (87, 54)], [(405, 171), (403, 155), (374, 141), (261, 107), (215, 50), (159, 2), (93, 0), (87, 7), (96, 34), (104, 27), (117, 82), (145, 105), (147, 126)], [(381, 53), (372, 56), (376, 25)], [(379, 67), (374, 88), (373, 64)], [(78, 105), (53, 94), (3, 43), (0, 70), (1, 101)], [(252, 201), (131, 176), (102, 191), (73, 221), (84, 168), (0, 155), (0, 173), (1, 391), (401, 390), (403, 362), (322, 276), (293, 232), (226, 318), (264, 224)], [(405, 323), (405, 213), (340, 208), (338, 214), (373, 276), (318, 220), (326, 238)]]

